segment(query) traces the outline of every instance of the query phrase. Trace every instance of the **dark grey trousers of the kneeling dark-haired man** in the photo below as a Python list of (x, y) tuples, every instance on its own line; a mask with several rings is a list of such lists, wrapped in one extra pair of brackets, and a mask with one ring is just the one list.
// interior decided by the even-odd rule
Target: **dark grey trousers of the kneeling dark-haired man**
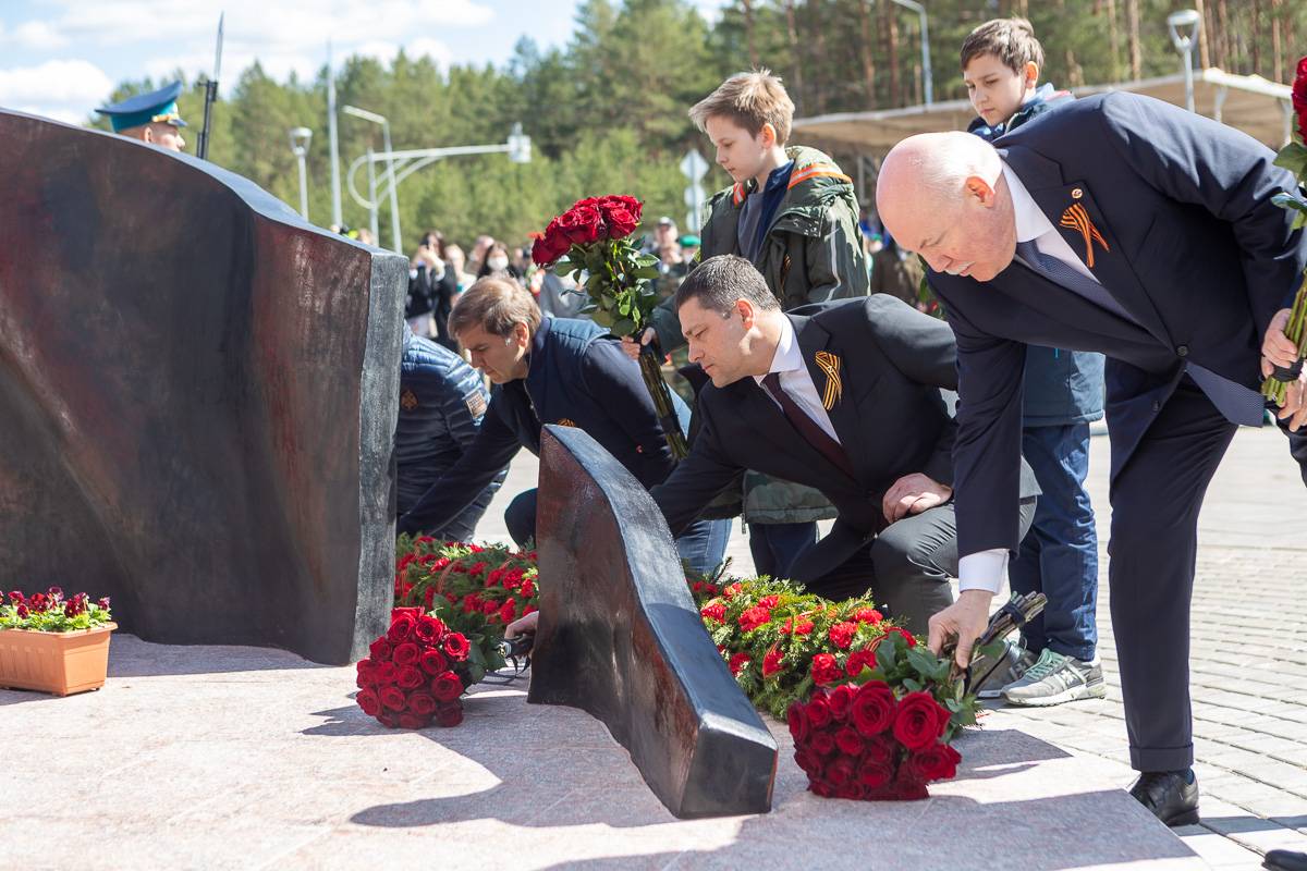
[[(1035, 517), (1035, 499), (1021, 504), (1021, 534)], [(870, 592), (889, 616), (914, 635), (927, 632), (927, 620), (953, 605), (949, 578), (958, 575), (958, 517), (953, 503), (890, 524), (870, 545), (859, 548), (835, 569), (805, 580), (804, 555), (795, 560), (795, 580), (810, 593), (839, 602)]]

